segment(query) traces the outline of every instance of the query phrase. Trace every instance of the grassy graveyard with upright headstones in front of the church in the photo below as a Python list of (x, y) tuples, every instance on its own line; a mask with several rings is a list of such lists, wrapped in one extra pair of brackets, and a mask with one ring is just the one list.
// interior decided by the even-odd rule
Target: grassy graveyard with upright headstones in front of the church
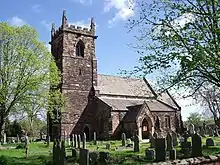
[[(93, 140), (86, 142), (82, 138), (82, 141), (79, 142), (78, 138), (78, 141), (75, 139), (72, 141), (70, 138), (67, 138), (65, 142), (63, 140), (59, 144), (56, 140), (49, 144), (48, 141), (32, 142), (28, 144), (28, 157), (26, 157), (27, 155), (25, 153), (26, 142), (8, 143), (2, 144), (0, 147), (0, 164), (84, 165), (96, 164), (97, 162), (100, 162), (101, 159), (103, 159), (103, 164), (151, 164), (158, 161), (168, 161), (169, 164), (169, 160), (175, 162), (176, 159), (180, 161), (198, 156), (211, 158), (211, 155), (216, 158), (214, 155), (220, 154), (220, 137), (200, 137), (199, 135), (194, 134), (192, 138), (186, 136), (188, 137), (187, 142), (184, 142), (183, 140), (179, 143), (181, 138), (177, 138), (176, 143), (172, 136), (170, 136), (171, 141), (169, 141), (168, 136), (166, 138), (154, 139), (154, 142), (152, 139), (150, 141), (147, 139), (140, 140), (139, 142), (136, 142), (135, 139), (134, 141), (131, 139), (123, 140), (123, 136), (122, 140), (114, 141)], [(196, 142), (195, 140), (193, 142), (193, 138), (198, 139), (196, 139)], [(201, 139), (201, 145), (198, 144), (199, 139)], [(157, 140), (158, 142), (156, 142)], [(161, 144), (159, 144), (161, 142), (159, 141), (164, 141), (164, 146), (161, 146)], [(157, 143), (160, 145), (159, 147), (157, 146)], [(57, 148), (59, 149), (57, 150)], [(163, 151), (165, 155), (163, 155)], [(87, 158), (89, 163), (86, 162)]]

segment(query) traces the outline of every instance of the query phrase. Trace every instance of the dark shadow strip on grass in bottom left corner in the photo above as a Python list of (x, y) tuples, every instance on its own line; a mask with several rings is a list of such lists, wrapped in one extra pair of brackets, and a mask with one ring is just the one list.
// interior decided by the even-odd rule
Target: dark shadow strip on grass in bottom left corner
[(25, 157), (1, 156), (0, 165), (45, 165), (51, 160), (50, 156), (30, 156), (28, 160)]

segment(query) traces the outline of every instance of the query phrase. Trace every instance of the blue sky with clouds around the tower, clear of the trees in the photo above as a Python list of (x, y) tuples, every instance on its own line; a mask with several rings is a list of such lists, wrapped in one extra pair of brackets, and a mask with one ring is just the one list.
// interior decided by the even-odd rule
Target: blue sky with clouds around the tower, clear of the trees
[[(131, 0), (2, 0), (0, 21), (11, 25), (28, 24), (34, 27), (40, 40), (48, 44), (52, 22), (61, 24), (62, 12), (67, 12), (70, 24), (88, 27), (91, 17), (96, 23), (96, 57), (98, 72), (117, 75), (119, 69), (132, 69), (138, 64), (139, 55), (128, 46), (134, 42), (132, 33), (125, 28), (127, 20), (135, 16), (129, 9)], [(196, 106), (186, 106), (190, 100), (179, 100), (184, 119)]]

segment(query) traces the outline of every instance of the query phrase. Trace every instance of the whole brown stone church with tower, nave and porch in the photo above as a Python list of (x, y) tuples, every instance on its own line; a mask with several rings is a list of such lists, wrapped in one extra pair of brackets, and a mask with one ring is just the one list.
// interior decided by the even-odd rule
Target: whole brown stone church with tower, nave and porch
[[(66, 99), (64, 112), (48, 115), (48, 133), (53, 138), (86, 133), (92, 139), (117, 139), (138, 133), (148, 138), (154, 131), (181, 128), (181, 108), (168, 93), (156, 93), (143, 79), (97, 73), (95, 24), (90, 28), (62, 25), (51, 30), (51, 52), (61, 71), (61, 92)], [(59, 117), (58, 117), (59, 116)]]

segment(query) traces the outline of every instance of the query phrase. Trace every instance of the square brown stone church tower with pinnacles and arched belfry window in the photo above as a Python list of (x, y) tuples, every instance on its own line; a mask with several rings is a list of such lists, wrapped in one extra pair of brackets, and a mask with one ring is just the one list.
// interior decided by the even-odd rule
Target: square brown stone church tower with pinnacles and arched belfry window
[(52, 24), (51, 52), (61, 72), (60, 89), (66, 101), (60, 122), (49, 126), (52, 138), (69, 136), (82, 129), (80, 118), (88, 104), (90, 90), (97, 85), (96, 38), (93, 18), (89, 29), (76, 27), (68, 25), (63, 11), (62, 25), (56, 30)]

